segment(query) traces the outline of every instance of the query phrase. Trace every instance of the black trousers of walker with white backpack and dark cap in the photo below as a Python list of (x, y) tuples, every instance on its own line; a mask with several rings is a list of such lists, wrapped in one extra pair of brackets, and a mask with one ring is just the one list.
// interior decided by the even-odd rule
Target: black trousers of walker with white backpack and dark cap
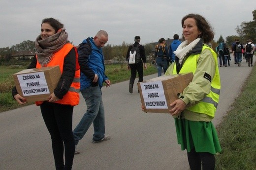
[(137, 72), (138, 72), (138, 75), (139, 75), (139, 81), (138, 82), (142, 82), (143, 81), (143, 64), (142, 64), (142, 61), (139, 62), (138, 64), (130, 64), (129, 66), (130, 66), (130, 82), (129, 82), (129, 84), (131, 84), (133, 86)]

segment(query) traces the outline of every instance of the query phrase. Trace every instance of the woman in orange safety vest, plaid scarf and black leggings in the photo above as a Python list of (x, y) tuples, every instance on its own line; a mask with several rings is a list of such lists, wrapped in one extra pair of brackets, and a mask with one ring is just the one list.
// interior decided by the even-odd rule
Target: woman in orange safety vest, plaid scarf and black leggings
[[(35, 104), (40, 106), (51, 135), (56, 170), (71, 170), (75, 152), (72, 116), (73, 107), (79, 103), (80, 67), (77, 49), (67, 40), (63, 27), (54, 18), (42, 21), (41, 33), (35, 40), (36, 55), (28, 69), (60, 67), (62, 75), (54, 92), (47, 101), (36, 101)], [(17, 93), (16, 87), (12, 95), (20, 104), (27, 102), (25, 97)]]

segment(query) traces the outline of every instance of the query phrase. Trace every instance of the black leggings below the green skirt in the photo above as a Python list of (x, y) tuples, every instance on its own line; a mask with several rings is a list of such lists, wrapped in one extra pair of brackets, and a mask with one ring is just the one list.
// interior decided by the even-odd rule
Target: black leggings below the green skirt
[(191, 170), (201, 170), (201, 164), (203, 170), (215, 169), (215, 157), (209, 152), (195, 152), (195, 149), (193, 148), (188, 152), (188, 160)]

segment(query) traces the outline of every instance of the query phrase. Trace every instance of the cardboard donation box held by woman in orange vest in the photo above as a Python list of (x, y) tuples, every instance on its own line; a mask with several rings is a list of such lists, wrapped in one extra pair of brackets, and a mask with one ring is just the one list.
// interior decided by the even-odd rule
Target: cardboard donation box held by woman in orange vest
[(53, 93), (61, 78), (59, 66), (27, 69), (13, 74), (18, 94), (27, 101), (43, 101)]

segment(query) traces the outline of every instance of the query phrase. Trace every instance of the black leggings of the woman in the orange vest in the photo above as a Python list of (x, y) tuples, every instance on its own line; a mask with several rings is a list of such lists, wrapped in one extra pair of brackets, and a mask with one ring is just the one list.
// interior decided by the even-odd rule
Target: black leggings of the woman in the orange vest
[[(56, 170), (71, 170), (75, 153), (75, 141), (72, 131), (74, 107), (44, 101), (40, 108), (43, 120), (51, 135)], [(64, 149), (65, 165), (63, 159)]]

